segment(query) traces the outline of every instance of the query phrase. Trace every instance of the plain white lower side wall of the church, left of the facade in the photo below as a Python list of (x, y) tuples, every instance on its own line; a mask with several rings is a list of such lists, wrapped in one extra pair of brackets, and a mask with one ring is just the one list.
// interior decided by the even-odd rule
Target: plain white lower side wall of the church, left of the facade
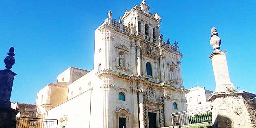
[(90, 97), (91, 90), (81, 93), (49, 110), (47, 118), (59, 119), (58, 128), (89, 128)]

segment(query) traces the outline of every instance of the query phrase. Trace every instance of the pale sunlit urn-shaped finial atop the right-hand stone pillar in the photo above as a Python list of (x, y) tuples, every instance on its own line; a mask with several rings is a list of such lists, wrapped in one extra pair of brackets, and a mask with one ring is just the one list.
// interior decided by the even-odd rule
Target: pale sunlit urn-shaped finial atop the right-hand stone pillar
[(210, 45), (213, 47), (213, 50), (219, 51), (221, 45), (221, 39), (219, 38), (219, 34), (217, 33), (217, 29), (213, 27), (211, 29), (211, 38), (210, 38)]

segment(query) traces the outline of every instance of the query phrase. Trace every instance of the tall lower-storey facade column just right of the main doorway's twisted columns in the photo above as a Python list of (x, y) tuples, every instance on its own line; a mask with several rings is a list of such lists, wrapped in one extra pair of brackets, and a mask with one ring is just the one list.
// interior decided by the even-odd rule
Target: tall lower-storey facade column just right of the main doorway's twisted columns
[(165, 127), (171, 126), (170, 118), (169, 118), (169, 109), (171, 106), (169, 104), (169, 95), (163, 95), (164, 102), (164, 116), (165, 116)]

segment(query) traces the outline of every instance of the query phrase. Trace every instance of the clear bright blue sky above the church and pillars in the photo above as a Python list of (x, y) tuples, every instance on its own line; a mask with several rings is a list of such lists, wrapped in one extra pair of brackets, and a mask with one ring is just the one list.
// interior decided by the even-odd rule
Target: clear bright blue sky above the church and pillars
[[(178, 41), (185, 88), (197, 83), (215, 89), (210, 29), (215, 26), (221, 50), (227, 50), (231, 81), (256, 93), (256, 1), (147, 0), (162, 17), (164, 40)], [(113, 11), (119, 19), (140, 0), (2, 0), (0, 1), (0, 69), (11, 46), (16, 63), (12, 102), (35, 103), (36, 93), (70, 66), (93, 69), (94, 30)], [(2, 61), (1, 61), (2, 60)]]

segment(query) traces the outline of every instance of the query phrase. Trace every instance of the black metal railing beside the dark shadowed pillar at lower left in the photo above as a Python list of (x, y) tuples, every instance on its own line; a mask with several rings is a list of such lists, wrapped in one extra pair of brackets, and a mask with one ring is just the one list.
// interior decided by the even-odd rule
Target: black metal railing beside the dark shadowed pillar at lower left
[(57, 128), (58, 119), (16, 117), (16, 128)]

